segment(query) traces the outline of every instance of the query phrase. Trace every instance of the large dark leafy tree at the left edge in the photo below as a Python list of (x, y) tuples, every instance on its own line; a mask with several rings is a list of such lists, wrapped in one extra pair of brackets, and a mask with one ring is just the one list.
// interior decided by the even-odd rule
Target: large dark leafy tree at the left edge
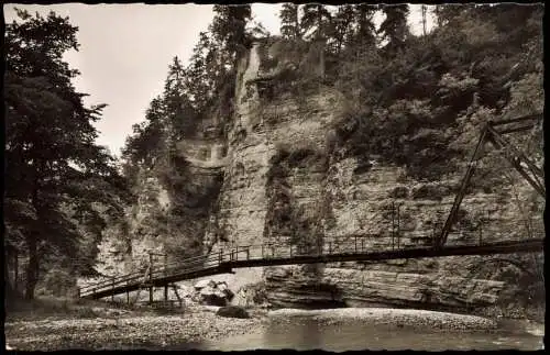
[(54, 12), (18, 15), (4, 47), (6, 245), (26, 256), (25, 296), (33, 298), (54, 267), (91, 269), (94, 246), (106, 222), (122, 214), (129, 191), (114, 158), (95, 143), (92, 123), (105, 104), (85, 107), (70, 82), (79, 73), (63, 60), (78, 49), (77, 27)]

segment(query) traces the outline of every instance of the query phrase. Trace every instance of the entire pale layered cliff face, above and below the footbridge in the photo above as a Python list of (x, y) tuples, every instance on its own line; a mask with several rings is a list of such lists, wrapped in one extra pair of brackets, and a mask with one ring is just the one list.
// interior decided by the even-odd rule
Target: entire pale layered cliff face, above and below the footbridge
[[(262, 71), (265, 58), (260, 49), (261, 44), (255, 44), (240, 64), (234, 117), (204, 123), (197, 137), (178, 143), (193, 177), (186, 190), (193, 193), (186, 199), (196, 200), (184, 211), (197, 212), (188, 234), (199, 235), (207, 252), (266, 242), (327, 247), (355, 236), (366, 248), (387, 248), (394, 203), (399, 206), (400, 245), (429, 242), (435, 228), (444, 223), (463, 173), (438, 182), (417, 181), (397, 166), (345, 157), (333, 143), (332, 129), (344, 117), (345, 98), (320, 84), (300, 98), (290, 92), (266, 97), (268, 80), (262, 77), (273, 73)], [(288, 66), (288, 60), (284, 63)], [(223, 138), (208, 135), (222, 125)], [(475, 230), (483, 219), (484, 241), (524, 236), (526, 231), (518, 224), (521, 213), (513, 200), (529, 192), (528, 186), (516, 186), (498, 193), (471, 193), (462, 203), (460, 223)], [(150, 195), (154, 203), (143, 201), (138, 209), (148, 203), (162, 211), (162, 196), (166, 206), (176, 198), (163, 189)], [(200, 207), (206, 196), (213, 202)], [(151, 219), (134, 218), (133, 230)], [(529, 223), (542, 225), (541, 221)], [(185, 237), (188, 235), (180, 233)], [(477, 237), (479, 230), (469, 235), (454, 233), (448, 243)], [(138, 248), (132, 244), (133, 253)], [(508, 286), (493, 279), (494, 275), (472, 277), (466, 266), (482, 260), (465, 256), (297, 265), (238, 270), (231, 278), (264, 280), (267, 298), (276, 307), (487, 307)]]

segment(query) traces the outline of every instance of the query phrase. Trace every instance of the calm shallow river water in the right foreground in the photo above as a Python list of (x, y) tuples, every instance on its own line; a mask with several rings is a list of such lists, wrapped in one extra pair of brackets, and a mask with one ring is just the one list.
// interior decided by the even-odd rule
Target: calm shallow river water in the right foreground
[[(535, 334), (538, 335), (535, 335)], [(345, 324), (323, 324), (309, 317), (293, 318), (286, 322), (267, 321), (265, 329), (221, 341), (193, 344), (197, 350), (324, 350), (331, 352), (361, 350), (519, 350), (543, 348), (543, 326), (535, 332), (526, 330), (525, 322), (502, 322), (492, 331), (442, 331), (408, 325), (369, 324), (367, 321)], [(187, 346), (186, 346), (187, 347)], [(187, 347), (188, 348), (188, 347)]]

